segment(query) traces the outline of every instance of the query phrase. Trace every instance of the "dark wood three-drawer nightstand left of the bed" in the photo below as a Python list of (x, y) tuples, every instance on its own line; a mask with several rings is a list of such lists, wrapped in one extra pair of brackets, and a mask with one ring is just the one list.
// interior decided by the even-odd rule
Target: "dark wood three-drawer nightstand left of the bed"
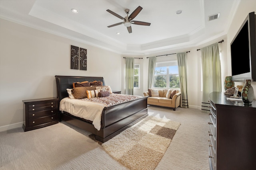
[(22, 100), (23, 130), (26, 132), (59, 123), (57, 101), (57, 98)]

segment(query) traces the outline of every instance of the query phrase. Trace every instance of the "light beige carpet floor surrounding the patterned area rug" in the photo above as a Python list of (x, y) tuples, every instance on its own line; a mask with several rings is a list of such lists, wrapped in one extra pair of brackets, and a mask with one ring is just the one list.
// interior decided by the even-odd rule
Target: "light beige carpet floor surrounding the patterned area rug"
[[(181, 123), (156, 170), (209, 170), (207, 113), (148, 106), (149, 115)], [(127, 170), (90, 133), (62, 122), (24, 132), (0, 132), (1, 170)]]

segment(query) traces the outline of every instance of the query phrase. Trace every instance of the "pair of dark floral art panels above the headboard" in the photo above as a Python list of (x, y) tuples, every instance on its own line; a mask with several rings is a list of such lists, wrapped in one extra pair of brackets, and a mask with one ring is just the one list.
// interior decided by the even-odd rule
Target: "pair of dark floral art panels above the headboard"
[(70, 68), (75, 70), (87, 70), (87, 49), (71, 45)]

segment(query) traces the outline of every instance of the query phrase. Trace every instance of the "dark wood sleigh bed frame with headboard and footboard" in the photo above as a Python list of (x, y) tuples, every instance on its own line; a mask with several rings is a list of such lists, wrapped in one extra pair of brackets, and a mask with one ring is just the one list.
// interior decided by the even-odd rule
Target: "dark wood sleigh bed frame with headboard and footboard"
[[(55, 76), (58, 107), (60, 101), (68, 97), (67, 88), (73, 88), (73, 82), (101, 81), (105, 86), (103, 77), (87, 76)], [(148, 116), (147, 97), (142, 97), (122, 104), (104, 107), (101, 114), (100, 130), (98, 131), (92, 121), (76, 117), (66, 111), (60, 112), (60, 121), (66, 121), (76, 127), (84, 129), (95, 135), (95, 139), (102, 143), (118, 135), (128, 127)]]

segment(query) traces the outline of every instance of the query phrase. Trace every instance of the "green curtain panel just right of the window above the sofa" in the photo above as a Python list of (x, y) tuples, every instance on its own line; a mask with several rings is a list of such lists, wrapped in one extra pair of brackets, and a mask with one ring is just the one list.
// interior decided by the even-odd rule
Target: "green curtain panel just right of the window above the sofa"
[(187, 92), (187, 53), (177, 53), (178, 70), (180, 78), (181, 100), (180, 106), (188, 108), (188, 92)]

